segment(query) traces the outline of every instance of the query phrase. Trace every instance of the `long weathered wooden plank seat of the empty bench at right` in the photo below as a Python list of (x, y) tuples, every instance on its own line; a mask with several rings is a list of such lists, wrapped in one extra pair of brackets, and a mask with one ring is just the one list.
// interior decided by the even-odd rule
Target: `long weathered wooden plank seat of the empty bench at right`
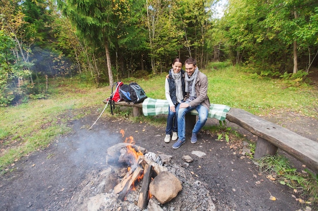
[(284, 150), (318, 173), (317, 142), (239, 108), (231, 108), (227, 119)]

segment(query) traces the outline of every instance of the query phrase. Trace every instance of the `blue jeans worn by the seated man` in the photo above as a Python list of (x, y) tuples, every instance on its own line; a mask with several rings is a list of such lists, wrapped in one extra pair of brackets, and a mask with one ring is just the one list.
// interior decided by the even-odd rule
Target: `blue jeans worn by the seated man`
[(198, 134), (208, 119), (209, 110), (201, 104), (197, 107), (180, 108), (178, 111), (178, 137), (181, 141), (185, 141), (185, 114), (193, 109), (198, 111), (199, 118), (192, 130), (192, 133)]

